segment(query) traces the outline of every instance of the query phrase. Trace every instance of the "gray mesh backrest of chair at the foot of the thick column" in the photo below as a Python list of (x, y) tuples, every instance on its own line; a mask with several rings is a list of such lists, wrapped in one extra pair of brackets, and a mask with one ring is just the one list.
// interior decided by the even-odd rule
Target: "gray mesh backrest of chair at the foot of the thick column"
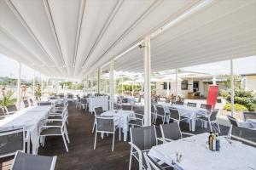
[(154, 126), (131, 127), (131, 143), (135, 144), (140, 150), (149, 150), (156, 143), (156, 132)]

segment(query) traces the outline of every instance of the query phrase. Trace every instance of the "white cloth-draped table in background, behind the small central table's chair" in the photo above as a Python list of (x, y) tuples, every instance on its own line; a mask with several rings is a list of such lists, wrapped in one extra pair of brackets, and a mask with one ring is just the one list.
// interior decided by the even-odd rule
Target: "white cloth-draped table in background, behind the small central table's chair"
[(97, 96), (87, 98), (89, 103), (89, 111), (94, 111), (96, 107), (102, 107), (104, 111), (108, 111), (108, 96)]

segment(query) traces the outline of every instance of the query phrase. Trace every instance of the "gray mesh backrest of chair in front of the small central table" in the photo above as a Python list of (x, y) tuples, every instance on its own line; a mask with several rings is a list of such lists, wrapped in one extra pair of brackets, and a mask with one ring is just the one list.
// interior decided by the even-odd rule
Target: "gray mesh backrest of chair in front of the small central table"
[(114, 132), (113, 116), (96, 116), (97, 131)]

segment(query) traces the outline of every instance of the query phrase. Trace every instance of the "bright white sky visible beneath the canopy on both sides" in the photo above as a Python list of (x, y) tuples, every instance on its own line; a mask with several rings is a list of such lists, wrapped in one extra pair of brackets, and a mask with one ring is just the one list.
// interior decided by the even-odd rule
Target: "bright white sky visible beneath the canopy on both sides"
[[(202, 72), (212, 75), (230, 74), (230, 60), (195, 65), (183, 68), (184, 71)], [(19, 64), (14, 59), (0, 54), (0, 77), (18, 77)], [(234, 59), (235, 74), (256, 74), (256, 56)], [(21, 77), (26, 80), (32, 79), (34, 71), (26, 65), (21, 66)], [(36, 77), (39, 73), (36, 71)]]

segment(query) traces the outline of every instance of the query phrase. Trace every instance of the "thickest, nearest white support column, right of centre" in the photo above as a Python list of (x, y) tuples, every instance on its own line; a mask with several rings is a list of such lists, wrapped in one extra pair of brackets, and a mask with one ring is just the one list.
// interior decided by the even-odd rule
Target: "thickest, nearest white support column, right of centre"
[(150, 37), (145, 37), (144, 46), (144, 126), (151, 126)]

